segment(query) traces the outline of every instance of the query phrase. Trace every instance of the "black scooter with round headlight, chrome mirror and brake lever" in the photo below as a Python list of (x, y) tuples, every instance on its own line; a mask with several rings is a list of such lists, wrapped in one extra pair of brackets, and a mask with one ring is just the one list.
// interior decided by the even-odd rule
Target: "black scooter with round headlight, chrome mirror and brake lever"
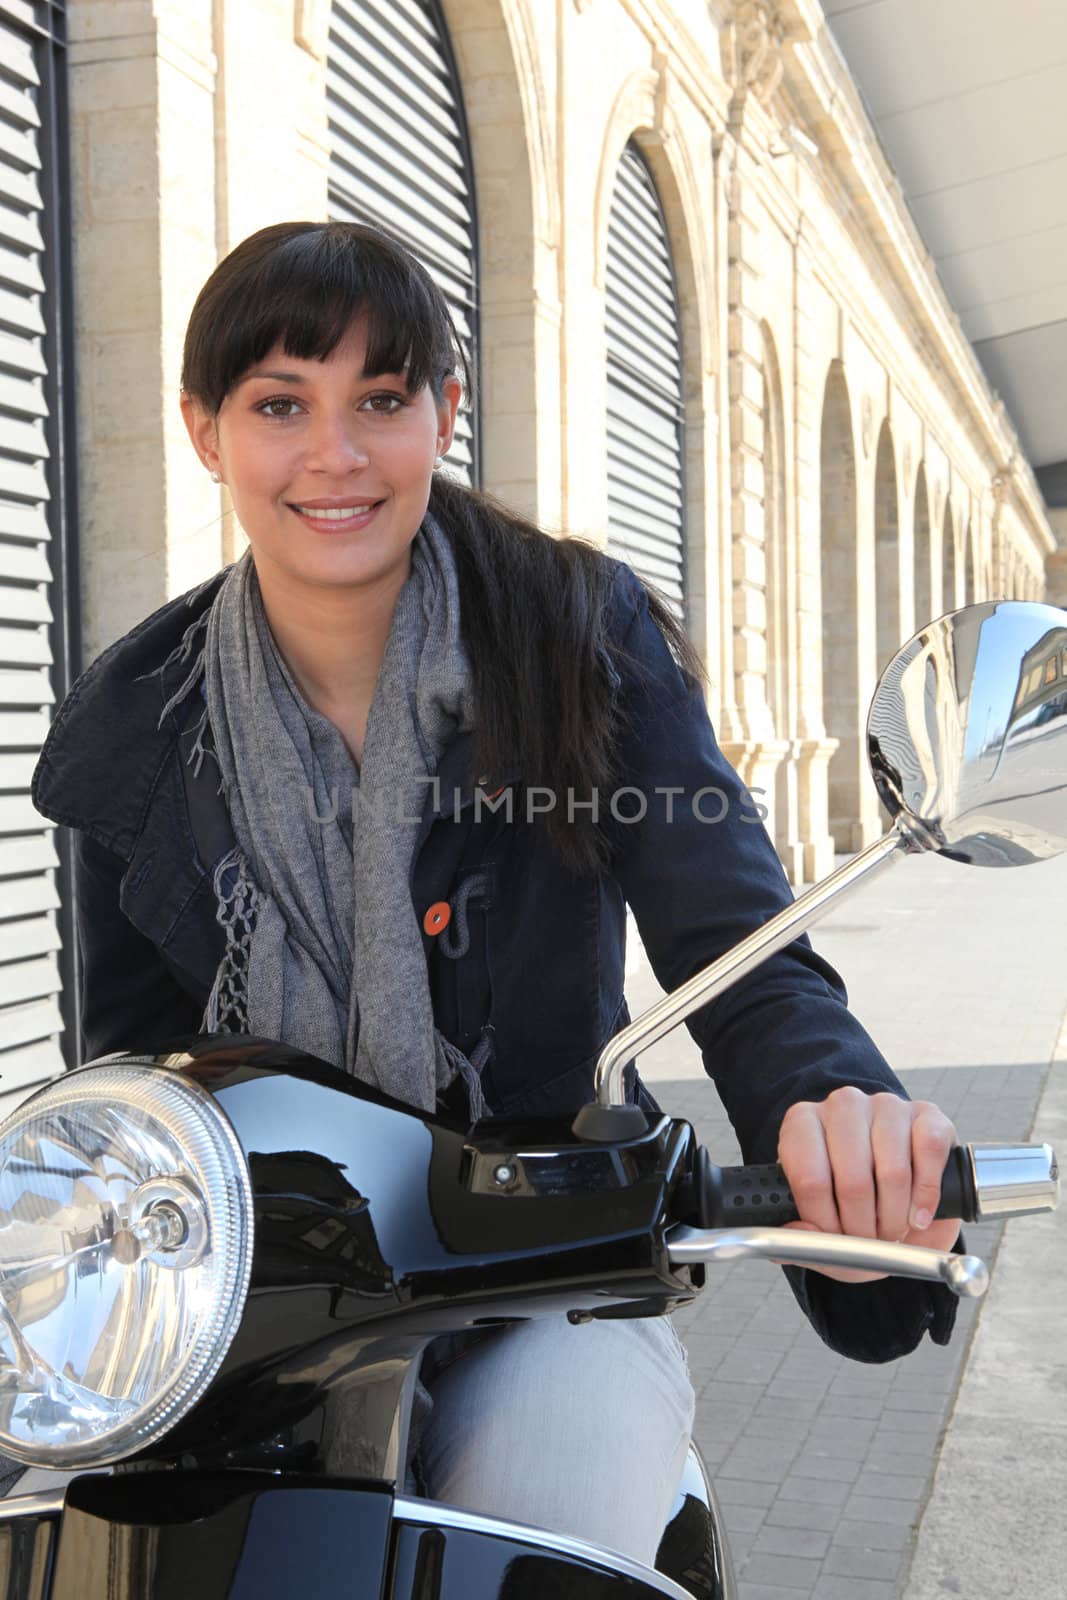
[[(234, 1035), (110, 1056), (19, 1106), (0, 1125), (0, 1451), (77, 1475), (0, 1501), (6, 1600), (729, 1600), (696, 1453), (656, 1570), (406, 1493), (419, 1362), (515, 1318), (661, 1315), (739, 1256), (984, 1291), (969, 1256), (777, 1232), (797, 1214), (781, 1168), (717, 1168), (688, 1123), (625, 1104), (622, 1074), (894, 856), (1067, 848), (1067, 715), (1019, 693), (1065, 621), (973, 606), (904, 648), (869, 723), (889, 834), (617, 1035), (571, 1125), (466, 1133)], [(939, 1214), (1056, 1198), (1048, 1146), (966, 1147)]]

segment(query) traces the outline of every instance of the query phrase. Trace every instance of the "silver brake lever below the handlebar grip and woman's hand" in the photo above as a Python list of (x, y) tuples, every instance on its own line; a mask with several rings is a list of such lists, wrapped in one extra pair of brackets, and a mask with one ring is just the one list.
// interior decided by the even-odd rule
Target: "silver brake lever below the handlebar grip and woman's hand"
[(989, 1269), (977, 1256), (955, 1256), (881, 1238), (816, 1234), (798, 1227), (701, 1229), (678, 1224), (665, 1242), (672, 1266), (757, 1258), (785, 1267), (854, 1267), (891, 1272), (899, 1278), (925, 1278), (928, 1283), (945, 1283), (965, 1299), (977, 1299), (989, 1288)]

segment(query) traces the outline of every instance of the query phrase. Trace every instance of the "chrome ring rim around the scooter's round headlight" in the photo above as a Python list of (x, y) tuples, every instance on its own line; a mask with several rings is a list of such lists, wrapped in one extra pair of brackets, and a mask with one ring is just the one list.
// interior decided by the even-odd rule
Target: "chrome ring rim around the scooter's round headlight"
[[(110, 1096), (110, 1098), (109, 1098)], [(213, 1306), (195, 1339), (184, 1350), (166, 1382), (131, 1418), (91, 1438), (38, 1443), (0, 1427), (0, 1451), (27, 1466), (53, 1470), (104, 1467), (144, 1453), (162, 1440), (200, 1403), (222, 1366), (242, 1323), (251, 1283), (254, 1251), (254, 1195), (242, 1141), (210, 1090), (178, 1064), (158, 1058), (104, 1058), (54, 1078), (22, 1101), (0, 1123), (0, 1168), (5, 1146), (19, 1126), (56, 1114), (107, 1107), (157, 1115), (168, 1128), (181, 1128), (189, 1162), (213, 1173), (205, 1187), (211, 1221), (211, 1250), (221, 1264)], [(152, 1174), (146, 1176), (146, 1182)], [(3, 1317), (0, 1294), (0, 1317)]]

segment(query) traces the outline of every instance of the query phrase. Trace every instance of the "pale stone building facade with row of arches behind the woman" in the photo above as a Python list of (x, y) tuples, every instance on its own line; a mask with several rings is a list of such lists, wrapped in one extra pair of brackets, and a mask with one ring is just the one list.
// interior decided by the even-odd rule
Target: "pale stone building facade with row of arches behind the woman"
[[(360, 0), (347, 0), (358, 13)], [(366, 11), (381, 11), (366, 0)], [(973, 598), (1062, 598), (1003, 406), (816, 0), (397, 0), (454, 61), (477, 197), (480, 482), (608, 536), (605, 294), (637, 152), (677, 288), (685, 614), (793, 882), (880, 830), (880, 667)], [(405, 24), (406, 26), (406, 24)], [(330, 0), (69, 11), (85, 658), (232, 558), (181, 422), (218, 259), (328, 214)]]

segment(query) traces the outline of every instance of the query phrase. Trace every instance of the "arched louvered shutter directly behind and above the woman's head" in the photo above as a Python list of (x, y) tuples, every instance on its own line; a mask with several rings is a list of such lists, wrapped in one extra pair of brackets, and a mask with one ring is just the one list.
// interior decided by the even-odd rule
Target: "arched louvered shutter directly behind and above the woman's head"
[[(429, 0), (333, 0), (326, 58), (330, 216), (371, 222), (411, 250), (448, 301), (477, 373), (474, 184), (462, 98)], [(448, 453), (478, 482), (472, 414)]]

